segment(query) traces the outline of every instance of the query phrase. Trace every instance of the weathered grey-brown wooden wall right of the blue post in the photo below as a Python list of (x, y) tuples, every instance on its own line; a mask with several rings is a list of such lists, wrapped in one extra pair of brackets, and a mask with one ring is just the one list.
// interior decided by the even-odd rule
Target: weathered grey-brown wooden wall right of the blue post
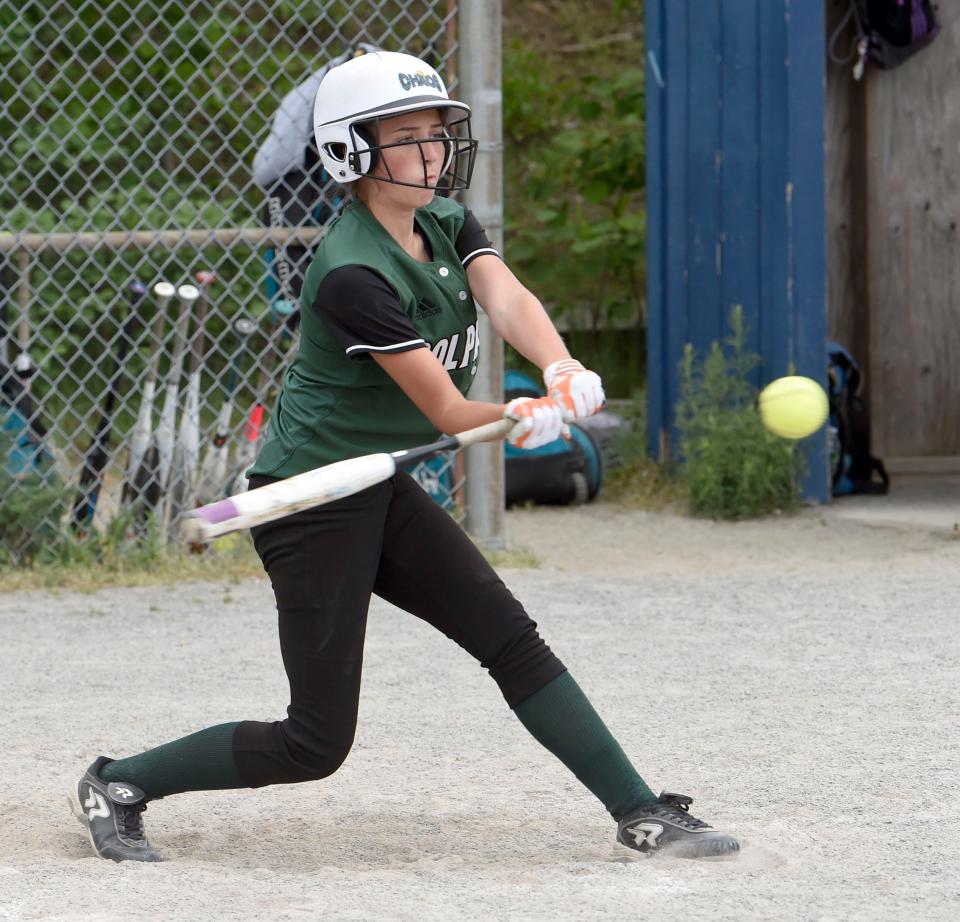
[[(828, 36), (848, 9), (827, 0)], [(864, 368), (891, 474), (960, 474), (960, 5), (938, 12), (894, 70), (827, 61), (827, 329)]]

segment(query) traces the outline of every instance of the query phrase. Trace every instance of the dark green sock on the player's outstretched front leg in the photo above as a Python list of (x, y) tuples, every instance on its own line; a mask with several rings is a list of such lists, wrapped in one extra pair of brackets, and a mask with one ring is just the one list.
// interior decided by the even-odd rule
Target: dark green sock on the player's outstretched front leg
[(657, 799), (569, 672), (517, 705), (514, 713), (614, 819)]

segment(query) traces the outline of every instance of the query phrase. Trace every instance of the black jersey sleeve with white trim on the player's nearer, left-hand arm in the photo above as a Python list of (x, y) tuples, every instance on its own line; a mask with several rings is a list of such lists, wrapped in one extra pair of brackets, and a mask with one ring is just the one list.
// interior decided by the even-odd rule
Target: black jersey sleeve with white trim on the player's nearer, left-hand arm
[(366, 266), (342, 266), (320, 283), (313, 309), (333, 328), (350, 358), (426, 346), (396, 291)]

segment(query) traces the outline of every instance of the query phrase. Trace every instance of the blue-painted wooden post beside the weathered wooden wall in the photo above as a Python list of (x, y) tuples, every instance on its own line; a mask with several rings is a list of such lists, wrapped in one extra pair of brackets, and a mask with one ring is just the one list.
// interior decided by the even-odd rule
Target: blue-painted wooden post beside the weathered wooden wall
[[(804, 0), (648, 0), (650, 448), (674, 441), (678, 363), (743, 307), (763, 384), (826, 384), (824, 9)], [(826, 436), (806, 440), (828, 496)]]

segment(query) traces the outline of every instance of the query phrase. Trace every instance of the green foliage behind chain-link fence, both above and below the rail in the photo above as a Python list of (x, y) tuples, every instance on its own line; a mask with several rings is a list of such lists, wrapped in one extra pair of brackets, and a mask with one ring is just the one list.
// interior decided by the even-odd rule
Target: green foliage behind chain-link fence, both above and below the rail
[[(128, 3), (0, 4), (5, 232), (258, 224), (253, 156), (284, 95), (355, 40), (394, 47), (405, 38), (411, 51), (436, 57), (428, 37), (446, 35), (444, 10), (425, 0), (252, 0), (240, 15), (235, 6), (170, 0), (135, 7), (134, 20)], [(0, 255), (0, 288), (22, 281), (15, 262)], [(77, 440), (105, 387), (98, 357), (118, 335), (127, 285), (183, 281), (206, 267), (223, 281), (213, 291), (212, 337), (238, 313), (269, 325), (263, 256), (247, 244), (32, 254), (31, 356), (42, 371), (34, 391), (60, 440)], [(152, 308), (141, 309), (146, 326)], [(121, 391), (135, 384), (149, 351), (132, 350)], [(218, 374), (224, 361), (221, 352), (208, 365)], [(247, 388), (239, 399), (251, 397)], [(130, 409), (115, 421), (121, 434)]]

